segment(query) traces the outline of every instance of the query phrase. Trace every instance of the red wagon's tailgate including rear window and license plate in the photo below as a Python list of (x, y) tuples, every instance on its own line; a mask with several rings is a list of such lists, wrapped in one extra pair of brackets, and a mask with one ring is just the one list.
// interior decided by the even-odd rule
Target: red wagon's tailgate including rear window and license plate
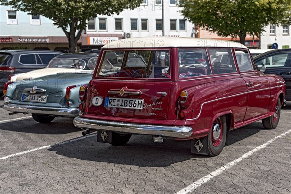
[(170, 102), (169, 49), (104, 51), (88, 87), (87, 114), (167, 119)]

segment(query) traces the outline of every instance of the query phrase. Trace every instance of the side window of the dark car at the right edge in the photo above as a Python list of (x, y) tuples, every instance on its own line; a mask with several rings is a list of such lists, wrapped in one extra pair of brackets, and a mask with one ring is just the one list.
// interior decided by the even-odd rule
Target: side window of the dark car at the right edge
[(258, 67), (263, 65), (266, 67), (283, 67), (287, 61), (288, 53), (276, 53), (273, 55), (265, 56), (256, 62)]

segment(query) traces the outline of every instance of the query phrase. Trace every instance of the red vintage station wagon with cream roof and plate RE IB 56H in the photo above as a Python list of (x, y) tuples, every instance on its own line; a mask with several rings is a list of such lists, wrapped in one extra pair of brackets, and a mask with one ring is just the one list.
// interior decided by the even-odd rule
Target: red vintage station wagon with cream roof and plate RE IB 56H
[[(185, 63), (187, 53), (193, 59)], [(249, 50), (236, 42), (122, 39), (102, 48), (97, 66), (80, 87), (74, 125), (89, 129), (84, 135), (97, 130), (97, 141), (112, 145), (143, 134), (154, 142), (191, 140), (192, 153), (215, 156), (228, 130), (258, 120), (275, 129), (286, 104), (285, 81), (258, 71)]]

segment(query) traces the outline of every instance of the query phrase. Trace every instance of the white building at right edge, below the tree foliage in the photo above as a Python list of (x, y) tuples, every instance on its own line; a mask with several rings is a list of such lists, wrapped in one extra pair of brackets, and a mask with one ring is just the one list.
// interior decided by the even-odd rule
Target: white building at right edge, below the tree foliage
[[(268, 25), (261, 34), (261, 49), (284, 49), (291, 48), (291, 26)], [(276, 44), (274, 44), (276, 43)], [(272, 46), (278, 45), (278, 48)]]

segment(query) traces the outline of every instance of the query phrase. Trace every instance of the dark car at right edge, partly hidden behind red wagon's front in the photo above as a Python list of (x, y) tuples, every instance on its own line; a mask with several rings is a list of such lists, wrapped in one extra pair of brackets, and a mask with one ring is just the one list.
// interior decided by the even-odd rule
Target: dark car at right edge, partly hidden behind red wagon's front
[(275, 49), (254, 57), (259, 69), (266, 67), (265, 74), (276, 74), (286, 82), (285, 99), (291, 101), (291, 49)]

